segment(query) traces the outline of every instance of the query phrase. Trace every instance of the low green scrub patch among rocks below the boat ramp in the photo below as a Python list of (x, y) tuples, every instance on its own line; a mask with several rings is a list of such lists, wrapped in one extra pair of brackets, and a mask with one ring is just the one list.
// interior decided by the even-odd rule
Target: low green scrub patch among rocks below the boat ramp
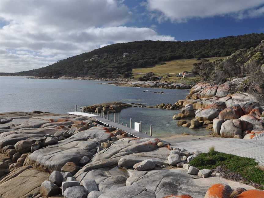
[(190, 165), (198, 169), (221, 172), (223, 177), (233, 181), (253, 185), (264, 190), (264, 172), (258, 169), (254, 159), (240, 157), (210, 149), (194, 158)]

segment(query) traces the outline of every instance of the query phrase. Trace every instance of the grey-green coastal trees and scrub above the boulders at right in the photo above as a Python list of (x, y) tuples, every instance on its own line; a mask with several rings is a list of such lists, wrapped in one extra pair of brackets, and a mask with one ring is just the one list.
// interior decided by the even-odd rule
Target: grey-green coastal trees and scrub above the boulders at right
[(254, 94), (264, 105), (264, 40), (255, 48), (240, 49), (229, 57), (213, 62), (203, 59), (193, 64), (193, 73), (205, 81), (222, 84), (234, 77), (247, 77), (241, 91)]

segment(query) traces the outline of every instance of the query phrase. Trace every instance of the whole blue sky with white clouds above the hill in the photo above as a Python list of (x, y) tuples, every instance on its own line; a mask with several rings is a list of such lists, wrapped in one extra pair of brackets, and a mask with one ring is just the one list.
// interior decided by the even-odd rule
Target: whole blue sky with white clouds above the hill
[(1, 0), (0, 72), (122, 42), (264, 32), (264, 0)]

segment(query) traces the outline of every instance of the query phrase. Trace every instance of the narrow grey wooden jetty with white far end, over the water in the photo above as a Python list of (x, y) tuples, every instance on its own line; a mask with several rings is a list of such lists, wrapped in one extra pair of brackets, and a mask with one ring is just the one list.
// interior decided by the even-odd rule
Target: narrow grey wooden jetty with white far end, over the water
[[(68, 114), (71, 114), (71, 115), (78, 115), (78, 116), (87, 116), (87, 117), (91, 117), (91, 118), (94, 118), (94, 119), (97, 119), (100, 123), (104, 124), (105, 126), (108, 126), (108, 127), (115, 127), (117, 129), (121, 129), (123, 131), (125, 131), (127, 134), (130, 134), (136, 138), (153, 138), (145, 133), (142, 133), (142, 132), (139, 132), (139, 131), (136, 131), (134, 130), (133, 128), (130, 128), (130, 127), (126, 127), (124, 125), (121, 125), (121, 124), (118, 124), (118, 123), (115, 123), (115, 122), (112, 122), (108, 119), (105, 119), (105, 118), (102, 118), (96, 114), (90, 114), (90, 113), (83, 113), (83, 112), (68, 112)], [(163, 141), (163, 144), (169, 144), (167, 143), (166, 141)]]

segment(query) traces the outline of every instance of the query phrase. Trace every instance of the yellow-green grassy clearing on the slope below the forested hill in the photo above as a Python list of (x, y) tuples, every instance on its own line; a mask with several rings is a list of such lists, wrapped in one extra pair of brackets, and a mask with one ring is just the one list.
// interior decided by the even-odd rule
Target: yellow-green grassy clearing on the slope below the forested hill
[[(225, 58), (225, 57), (212, 57), (207, 58), (210, 61), (214, 61), (219, 58)], [(182, 71), (191, 71), (193, 68), (193, 64), (198, 62), (196, 58), (190, 58), (190, 59), (178, 59), (178, 60), (171, 60), (165, 62), (165, 64), (157, 64), (154, 67), (150, 68), (136, 68), (133, 69), (133, 74), (135, 77), (138, 76), (138, 74), (145, 74), (148, 72), (153, 72), (155, 74), (173, 74), (173, 73), (181, 73)]]

